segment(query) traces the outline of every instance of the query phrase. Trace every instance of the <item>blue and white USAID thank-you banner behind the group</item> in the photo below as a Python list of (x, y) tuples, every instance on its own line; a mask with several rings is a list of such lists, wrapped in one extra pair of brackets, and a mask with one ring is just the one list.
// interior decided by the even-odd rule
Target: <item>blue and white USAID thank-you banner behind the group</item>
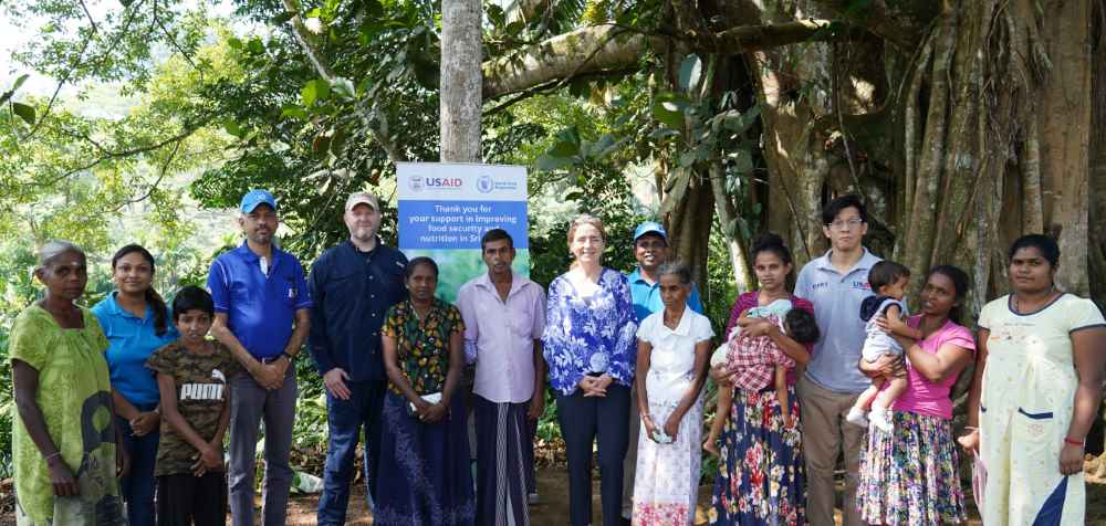
[(399, 250), (438, 263), (438, 296), (453, 302), (468, 280), (487, 272), (480, 238), (511, 234), (514, 270), (530, 275), (526, 168), (505, 165), (397, 162)]

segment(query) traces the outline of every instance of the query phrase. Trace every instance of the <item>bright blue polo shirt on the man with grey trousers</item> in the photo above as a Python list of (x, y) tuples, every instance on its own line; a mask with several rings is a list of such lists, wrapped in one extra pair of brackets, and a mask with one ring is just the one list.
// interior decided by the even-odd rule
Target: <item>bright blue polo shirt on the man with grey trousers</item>
[(269, 275), (261, 272), (260, 257), (243, 242), (211, 263), (208, 290), (215, 312), (227, 313), (227, 325), (254, 358), (272, 358), (284, 351), (295, 312), (310, 308), (311, 292), (303, 266), (294, 255), (273, 246)]

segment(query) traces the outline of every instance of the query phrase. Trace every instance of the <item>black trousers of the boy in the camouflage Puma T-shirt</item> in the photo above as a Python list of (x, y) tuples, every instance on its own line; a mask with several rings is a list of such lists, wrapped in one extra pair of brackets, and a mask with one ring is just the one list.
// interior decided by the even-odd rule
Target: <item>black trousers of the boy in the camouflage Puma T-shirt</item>
[(158, 526), (223, 526), (227, 524), (227, 474), (157, 477)]

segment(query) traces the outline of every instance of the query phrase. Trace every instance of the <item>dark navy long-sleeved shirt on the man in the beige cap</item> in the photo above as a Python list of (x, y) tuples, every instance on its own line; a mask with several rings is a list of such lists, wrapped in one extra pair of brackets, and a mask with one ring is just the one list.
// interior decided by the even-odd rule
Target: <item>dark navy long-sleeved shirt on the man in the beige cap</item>
[(320, 375), (340, 367), (353, 381), (384, 380), (380, 326), (388, 307), (407, 298), (407, 256), (384, 246), (361, 252), (349, 241), (311, 265), (311, 356)]

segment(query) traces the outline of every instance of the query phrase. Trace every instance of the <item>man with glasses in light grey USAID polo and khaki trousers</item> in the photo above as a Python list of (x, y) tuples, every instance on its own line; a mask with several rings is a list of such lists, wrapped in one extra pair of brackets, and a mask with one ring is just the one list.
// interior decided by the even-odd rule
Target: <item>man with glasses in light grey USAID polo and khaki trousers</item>
[(864, 322), (860, 303), (872, 295), (868, 271), (880, 260), (864, 248), (868, 215), (856, 196), (843, 196), (822, 210), (822, 232), (830, 251), (799, 273), (795, 295), (814, 304), (822, 338), (814, 344), (806, 374), (799, 380), (803, 408), (803, 455), (806, 460), (806, 518), (814, 526), (834, 524), (834, 467), (845, 454), (846, 526), (859, 525), (856, 485), (864, 429), (846, 425), (845, 414), (870, 380), (860, 374)]

